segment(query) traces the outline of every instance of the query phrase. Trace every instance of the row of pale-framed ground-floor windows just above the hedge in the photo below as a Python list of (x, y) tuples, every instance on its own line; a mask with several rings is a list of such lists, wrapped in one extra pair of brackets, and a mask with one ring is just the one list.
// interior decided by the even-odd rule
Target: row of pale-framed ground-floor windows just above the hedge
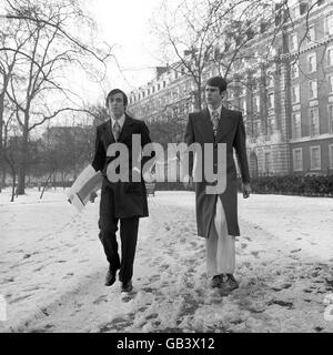
[[(330, 169), (333, 169), (333, 144), (329, 145), (329, 156), (330, 156)], [(323, 166), (327, 168), (327, 166)], [(321, 146), (313, 145), (310, 146), (310, 170), (321, 170), (322, 169), (322, 158), (321, 158)], [(304, 171), (303, 168), (303, 148), (293, 149), (293, 170)]]

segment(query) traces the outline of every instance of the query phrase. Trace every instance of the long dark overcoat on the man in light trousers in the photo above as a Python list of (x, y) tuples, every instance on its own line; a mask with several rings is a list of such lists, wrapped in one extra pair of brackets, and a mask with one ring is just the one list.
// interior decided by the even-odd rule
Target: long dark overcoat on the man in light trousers
[[(238, 181), (233, 152), (235, 151), (243, 183), (250, 182), (249, 164), (245, 146), (245, 130), (242, 113), (222, 106), (218, 125), (216, 138), (208, 109), (190, 113), (185, 129), (184, 141), (188, 145), (196, 142), (203, 151), (204, 143), (213, 143), (213, 163), (216, 168), (218, 143), (226, 143), (226, 187), (219, 195), (206, 194), (205, 187), (210, 184), (203, 179), (195, 182), (195, 212), (198, 235), (209, 237), (211, 223), (215, 214), (216, 199), (221, 199), (230, 235), (240, 235), (238, 223)], [(202, 164), (202, 166), (204, 163)], [(190, 160), (190, 172), (193, 162)], [(204, 174), (202, 174), (204, 176)]]

